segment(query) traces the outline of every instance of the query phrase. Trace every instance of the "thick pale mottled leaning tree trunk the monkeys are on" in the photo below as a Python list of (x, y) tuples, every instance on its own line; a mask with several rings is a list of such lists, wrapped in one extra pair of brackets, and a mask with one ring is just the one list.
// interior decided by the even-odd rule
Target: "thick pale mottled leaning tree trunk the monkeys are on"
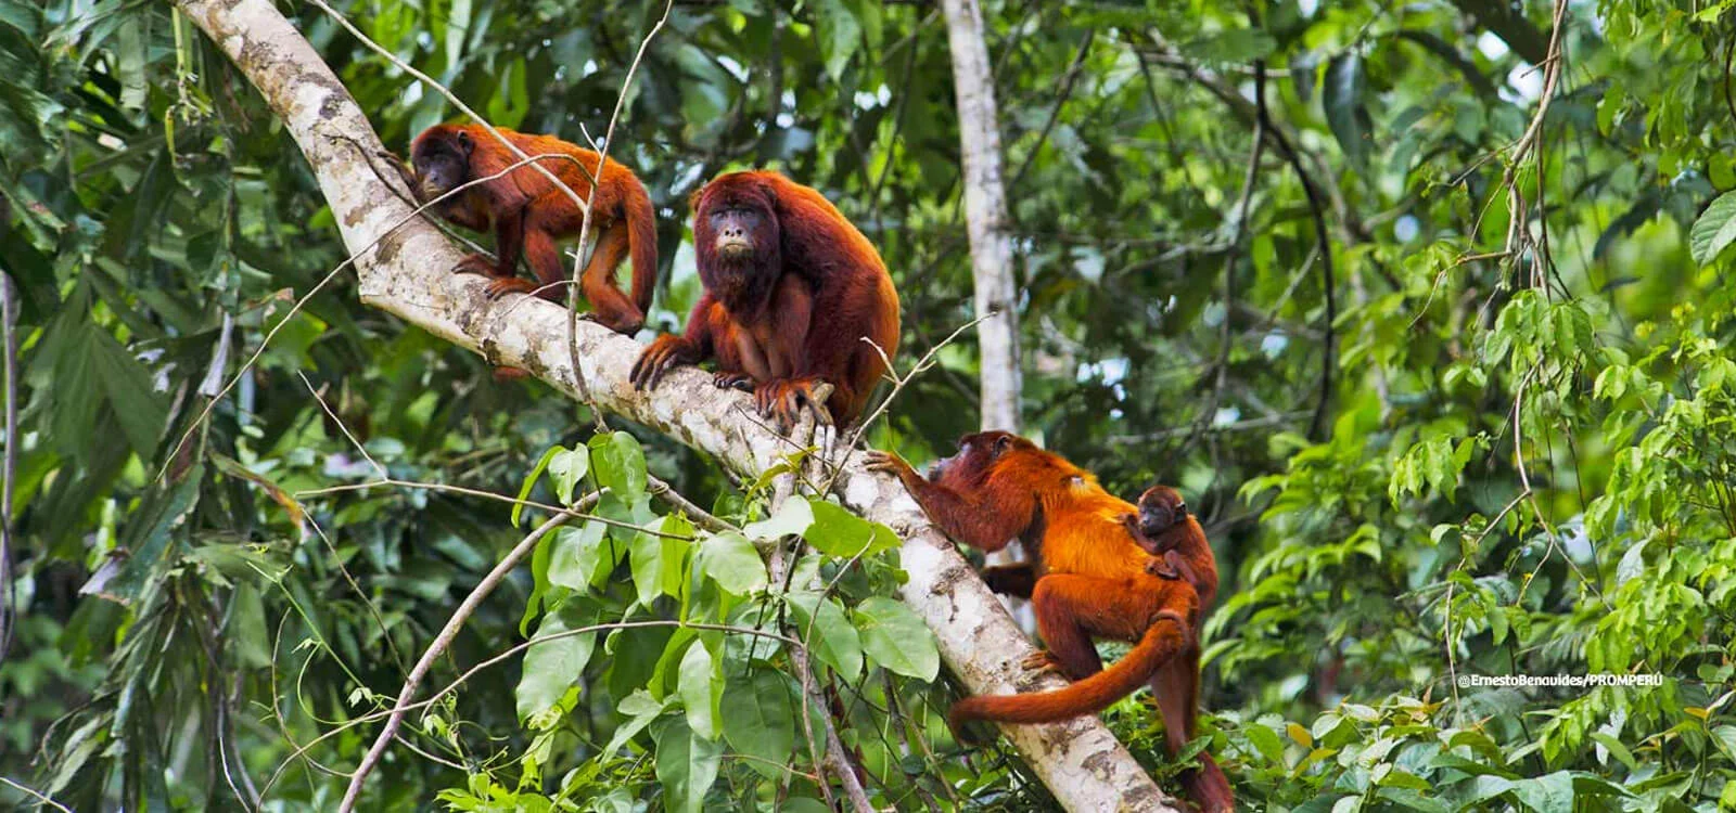
[[(672, 373), (653, 393), (635, 392), (627, 371), (641, 345), (582, 322), (580, 369), (564, 347), (566, 312), (509, 296), (493, 303), (484, 281), (451, 274), (460, 250), (437, 229), (410, 222), (410, 206), (368, 166), (378, 135), (349, 92), (306, 38), (269, 0), (181, 0), (187, 14), (247, 75), (307, 158), (344, 244), (356, 258), (365, 303), (396, 314), (493, 364), (523, 367), (578, 395), (580, 378), (601, 409), (639, 421), (753, 477), (788, 452), (788, 444), (752, 418), (750, 399), (719, 392), (694, 369)], [(378, 241), (375, 244), (375, 241)], [(510, 317), (503, 317), (510, 309)], [(889, 525), (903, 539), (910, 572), (901, 596), (934, 631), (948, 669), (974, 693), (1054, 688), (1021, 680), (1029, 641), (1000, 608), (953, 544), (927, 522), (891, 477), (845, 463), (837, 494), (852, 511)], [(1014, 747), (1068, 808), (1175, 810), (1134, 758), (1095, 718), (1049, 726), (1007, 726)]]

